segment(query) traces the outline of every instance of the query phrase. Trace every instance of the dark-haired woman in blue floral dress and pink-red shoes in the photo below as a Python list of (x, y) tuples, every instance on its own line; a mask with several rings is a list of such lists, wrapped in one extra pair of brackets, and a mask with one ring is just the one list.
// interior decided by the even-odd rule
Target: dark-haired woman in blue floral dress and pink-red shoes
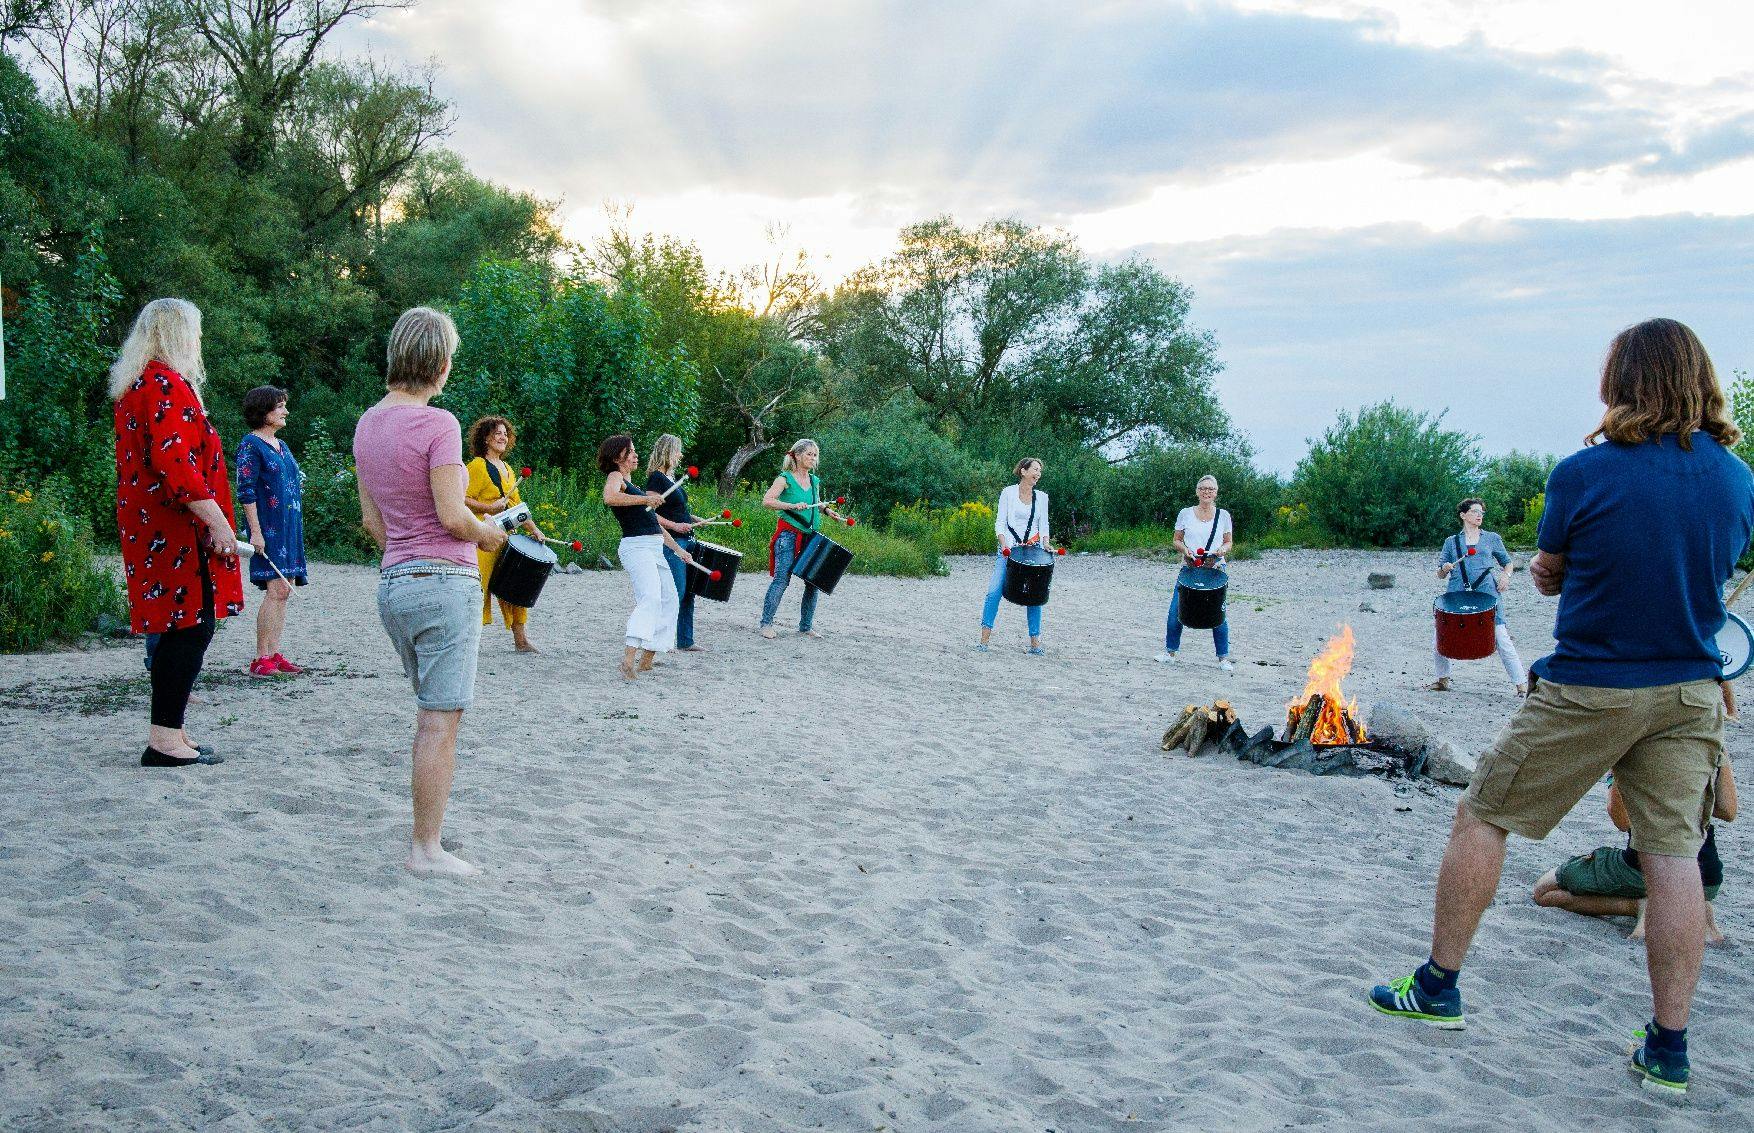
[(303, 668), (281, 656), (281, 631), (286, 628), (286, 600), (293, 586), (303, 586), (305, 507), (303, 474), (293, 451), (277, 433), (286, 426), (286, 391), (258, 386), (244, 395), (244, 424), (249, 433), (237, 445), (237, 502), (249, 523), (249, 581), (263, 591), (256, 610), (256, 659), (253, 677), (302, 673)]

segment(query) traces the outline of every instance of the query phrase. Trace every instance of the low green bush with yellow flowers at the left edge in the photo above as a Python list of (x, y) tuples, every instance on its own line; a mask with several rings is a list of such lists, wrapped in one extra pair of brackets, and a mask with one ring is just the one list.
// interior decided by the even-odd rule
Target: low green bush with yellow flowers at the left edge
[(0, 652), (126, 626), (116, 577), (93, 561), (91, 524), (65, 481), (0, 491)]

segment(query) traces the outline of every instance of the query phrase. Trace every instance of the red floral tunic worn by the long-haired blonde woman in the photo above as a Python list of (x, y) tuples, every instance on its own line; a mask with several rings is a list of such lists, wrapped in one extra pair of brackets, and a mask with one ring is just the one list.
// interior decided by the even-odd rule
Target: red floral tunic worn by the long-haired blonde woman
[(237, 556), (205, 549), (207, 524), (188, 510), (195, 500), (232, 516), (225, 447), (182, 375), (149, 361), (116, 400), (116, 530), (135, 633), (196, 624), (203, 559), (214, 616), (244, 612)]

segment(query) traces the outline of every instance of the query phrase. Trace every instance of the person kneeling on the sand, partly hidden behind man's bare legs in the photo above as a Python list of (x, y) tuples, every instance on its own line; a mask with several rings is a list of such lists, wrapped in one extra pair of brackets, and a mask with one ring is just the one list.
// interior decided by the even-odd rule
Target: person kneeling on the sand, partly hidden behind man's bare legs
[[(1631, 831), (1621, 789), (1608, 786), (1608, 817), (1614, 828)], [(1721, 823), (1736, 821), (1736, 777), (1724, 758), (1717, 768), (1717, 793), (1712, 817)], [(1712, 905), (1724, 884), (1724, 863), (1717, 856), (1715, 828), (1705, 828), (1705, 845), (1700, 847), (1700, 880), (1705, 884), (1705, 942), (1722, 944)], [(1556, 870), (1547, 870), (1535, 882), (1535, 903), (1544, 909), (1565, 909), (1586, 917), (1638, 917), (1631, 938), (1643, 940), (1645, 884), (1638, 868), (1638, 851), (1631, 845), (1603, 845), (1579, 854)]]

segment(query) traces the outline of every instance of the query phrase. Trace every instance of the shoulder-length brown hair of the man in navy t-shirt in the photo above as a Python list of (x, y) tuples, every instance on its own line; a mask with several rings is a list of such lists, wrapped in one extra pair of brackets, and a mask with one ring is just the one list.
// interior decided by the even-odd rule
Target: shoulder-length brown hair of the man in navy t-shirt
[(1726, 447), (1742, 440), (1712, 358), (1700, 337), (1675, 319), (1647, 319), (1615, 335), (1601, 365), (1601, 403), (1608, 410), (1584, 444), (1603, 437), (1643, 444), (1673, 433), (1691, 451), (1698, 430)]

